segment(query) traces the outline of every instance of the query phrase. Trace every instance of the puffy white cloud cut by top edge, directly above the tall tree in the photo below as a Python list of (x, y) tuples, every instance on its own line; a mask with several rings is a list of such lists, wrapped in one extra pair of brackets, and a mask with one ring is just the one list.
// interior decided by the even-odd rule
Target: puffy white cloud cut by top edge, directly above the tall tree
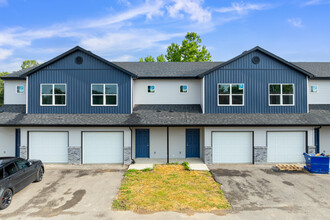
[(184, 13), (189, 14), (192, 21), (206, 23), (211, 20), (211, 12), (204, 9), (201, 5), (203, 0), (172, 0), (173, 4), (167, 5), (167, 11), (173, 18), (183, 18)]

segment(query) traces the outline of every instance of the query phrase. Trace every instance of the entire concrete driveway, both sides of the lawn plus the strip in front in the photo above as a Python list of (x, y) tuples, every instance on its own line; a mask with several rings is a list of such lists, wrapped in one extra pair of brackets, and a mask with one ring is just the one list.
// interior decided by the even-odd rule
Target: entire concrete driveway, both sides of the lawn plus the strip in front
[(17, 193), (1, 219), (330, 219), (330, 176), (285, 174), (263, 165), (210, 166), (233, 206), (219, 213), (114, 211), (125, 166), (46, 165), (44, 179)]

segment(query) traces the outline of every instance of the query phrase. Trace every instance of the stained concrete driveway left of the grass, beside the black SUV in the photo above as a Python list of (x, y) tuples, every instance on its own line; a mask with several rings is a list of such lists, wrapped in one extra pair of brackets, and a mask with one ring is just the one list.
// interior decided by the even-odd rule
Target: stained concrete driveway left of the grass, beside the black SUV
[(44, 179), (14, 195), (11, 205), (0, 211), (0, 218), (106, 218), (126, 168), (46, 165)]

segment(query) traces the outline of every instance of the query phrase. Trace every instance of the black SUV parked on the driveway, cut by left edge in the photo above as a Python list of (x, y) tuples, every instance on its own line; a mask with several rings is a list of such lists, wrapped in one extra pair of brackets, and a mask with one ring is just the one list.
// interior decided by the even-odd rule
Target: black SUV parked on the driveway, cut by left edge
[(44, 165), (40, 160), (0, 157), (0, 209), (7, 208), (12, 197), (32, 182), (40, 182)]

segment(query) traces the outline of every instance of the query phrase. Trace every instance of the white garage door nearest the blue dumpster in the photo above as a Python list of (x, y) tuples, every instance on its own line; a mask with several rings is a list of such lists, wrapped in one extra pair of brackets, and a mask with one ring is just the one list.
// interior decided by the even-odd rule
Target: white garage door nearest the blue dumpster
[(304, 162), (305, 135), (305, 132), (267, 132), (267, 162)]

